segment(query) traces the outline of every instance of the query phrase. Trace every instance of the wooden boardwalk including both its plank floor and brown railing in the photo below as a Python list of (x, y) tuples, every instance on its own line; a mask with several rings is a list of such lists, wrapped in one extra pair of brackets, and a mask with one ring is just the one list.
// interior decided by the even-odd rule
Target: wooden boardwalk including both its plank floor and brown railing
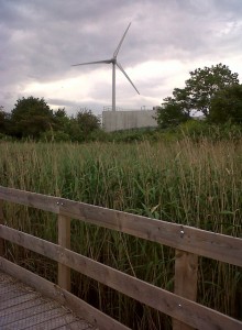
[[(55, 213), (57, 216), (57, 242), (50, 242), (11, 228), (12, 220), (9, 221), (7, 217), (6, 204), (16, 204), (25, 208)], [(10, 215), (16, 217), (15, 212)], [(157, 249), (158, 244), (174, 249), (174, 292), (72, 251), (72, 239), (76, 235), (70, 230), (72, 221), (85, 221), (98, 228), (102, 227), (155, 242)], [(10, 262), (6, 242), (56, 262), (57, 285)], [(70, 272), (74, 270), (156, 309), (157, 312), (172, 317), (173, 330), (242, 330), (241, 320), (197, 302), (200, 257), (242, 267), (241, 252), (241, 238), (0, 186), (0, 276), (2, 276), (0, 277), (0, 283), (2, 283), (0, 285), (0, 329), (130, 329), (70, 293)], [(54, 300), (45, 299), (40, 293), (25, 288), (23, 284), (20, 285), (15, 279), (6, 277), (1, 272), (18, 278)], [(35, 300), (36, 305), (33, 305)], [(63, 306), (75, 311), (79, 319)], [(133, 317), (135, 318), (135, 315)], [(91, 327), (84, 319), (97, 328)], [(146, 329), (152, 329), (152, 326), (148, 323)]]

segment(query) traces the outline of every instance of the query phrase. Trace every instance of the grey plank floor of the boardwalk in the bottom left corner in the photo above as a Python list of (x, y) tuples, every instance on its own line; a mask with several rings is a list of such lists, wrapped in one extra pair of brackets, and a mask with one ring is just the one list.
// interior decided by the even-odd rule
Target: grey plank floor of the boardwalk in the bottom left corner
[(94, 330), (69, 309), (0, 272), (0, 329)]

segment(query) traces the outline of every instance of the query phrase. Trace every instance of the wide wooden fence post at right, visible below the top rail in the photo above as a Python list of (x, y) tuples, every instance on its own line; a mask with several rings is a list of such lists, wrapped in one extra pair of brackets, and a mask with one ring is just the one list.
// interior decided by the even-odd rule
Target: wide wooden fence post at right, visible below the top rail
[[(175, 288), (178, 296), (196, 301), (197, 299), (198, 256), (196, 254), (176, 250), (175, 261)], [(191, 330), (176, 319), (173, 319), (173, 330)]]

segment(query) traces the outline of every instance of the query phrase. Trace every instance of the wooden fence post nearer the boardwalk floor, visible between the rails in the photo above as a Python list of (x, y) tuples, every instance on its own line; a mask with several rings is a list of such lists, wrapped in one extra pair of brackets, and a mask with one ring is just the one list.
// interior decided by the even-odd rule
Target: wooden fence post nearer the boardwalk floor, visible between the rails
[[(58, 244), (62, 248), (70, 248), (70, 219), (58, 216)], [(70, 292), (70, 268), (58, 263), (58, 286)]]

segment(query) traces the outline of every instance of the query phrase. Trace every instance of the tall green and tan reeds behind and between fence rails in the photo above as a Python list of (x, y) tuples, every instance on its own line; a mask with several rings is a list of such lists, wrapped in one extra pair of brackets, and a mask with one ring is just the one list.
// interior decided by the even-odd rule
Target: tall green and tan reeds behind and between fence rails
[[(62, 196), (242, 237), (242, 141), (0, 143), (0, 185)], [(8, 205), (9, 226), (56, 242), (56, 218)], [(173, 290), (174, 251), (72, 222), (73, 250)], [(56, 264), (9, 244), (9, 258), (56, 280)], [(73, 272), (73, 290), (134, 329), (170, 329), (169, 318)], [(241, 270), (200, 258), (198, 301), (239, 317)], [(133, 317), (134, 316), (134, 317)]]

